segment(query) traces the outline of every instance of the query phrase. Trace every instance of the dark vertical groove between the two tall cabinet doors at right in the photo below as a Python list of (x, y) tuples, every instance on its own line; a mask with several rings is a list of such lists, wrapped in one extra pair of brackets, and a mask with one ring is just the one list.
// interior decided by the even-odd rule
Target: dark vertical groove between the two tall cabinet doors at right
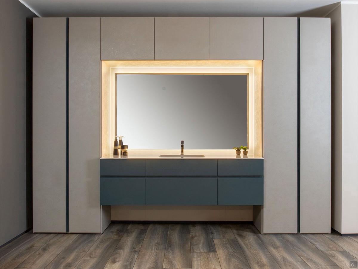
[(300, 232), (301, 207), (301, 50), (300, 18), (297, 18), (297, 233)]

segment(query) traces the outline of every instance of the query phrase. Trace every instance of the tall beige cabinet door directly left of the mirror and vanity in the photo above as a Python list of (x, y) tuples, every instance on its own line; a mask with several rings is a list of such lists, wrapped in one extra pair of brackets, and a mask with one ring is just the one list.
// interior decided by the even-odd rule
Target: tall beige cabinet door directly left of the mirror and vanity
[(101, 232), (100, 18), (69, 19), (69, 231)]

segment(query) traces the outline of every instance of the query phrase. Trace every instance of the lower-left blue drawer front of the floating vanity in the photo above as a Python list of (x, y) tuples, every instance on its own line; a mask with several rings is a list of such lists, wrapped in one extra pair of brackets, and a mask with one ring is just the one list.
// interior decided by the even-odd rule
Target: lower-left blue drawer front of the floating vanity
[(101, 176), (102, 205), (145, 205), (145, 176)]

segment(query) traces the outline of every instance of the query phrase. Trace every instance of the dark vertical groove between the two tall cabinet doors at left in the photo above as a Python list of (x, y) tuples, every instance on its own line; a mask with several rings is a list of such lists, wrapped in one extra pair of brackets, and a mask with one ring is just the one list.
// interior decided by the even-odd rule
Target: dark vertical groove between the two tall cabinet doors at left
[(66, 232), (69, 232), (69, 82), (68, 82), (68, 45), (69, 18), (66, 19)]

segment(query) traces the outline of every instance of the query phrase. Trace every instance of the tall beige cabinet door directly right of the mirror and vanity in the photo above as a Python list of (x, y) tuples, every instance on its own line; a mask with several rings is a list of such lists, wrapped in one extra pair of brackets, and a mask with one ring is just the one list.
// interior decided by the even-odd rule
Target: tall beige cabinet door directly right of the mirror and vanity
[(297, 18), (264, 18), (264, 233), (297, 232)]

